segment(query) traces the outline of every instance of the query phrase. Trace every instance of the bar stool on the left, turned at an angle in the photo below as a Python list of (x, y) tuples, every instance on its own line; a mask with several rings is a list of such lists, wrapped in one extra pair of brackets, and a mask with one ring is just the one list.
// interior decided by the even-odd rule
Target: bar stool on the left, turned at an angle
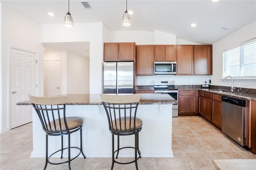
[[(80, 153), (86, 158), (82, 150), (82, 125), (83, 119), (80, 117), (66, 117), (66, 100), (67, 96), (58, 97), (38, 97), (28, 95), (36, 113), (40, 119), (43, 130), (46, 133), (46, 160), (44, 170), (47, 164), (64, 164), (68, 163), (69, 170), (71, 170), (71, 161), (77, 158)], [(70, 147), (70, 134), (80, 130), (80, 148)], [(63, 148), (63, 136), (68, 135), (68, 147)], [(48, 136), (61, 136), (61, 149), (48, 156)], [(79, 153), (71, 158), (70, 149), (78, 149)], [(50, 157), (61, 152), (63, 158), (63, 151), (68, 149), (68, 160), (63, 162), (50, 162)]]

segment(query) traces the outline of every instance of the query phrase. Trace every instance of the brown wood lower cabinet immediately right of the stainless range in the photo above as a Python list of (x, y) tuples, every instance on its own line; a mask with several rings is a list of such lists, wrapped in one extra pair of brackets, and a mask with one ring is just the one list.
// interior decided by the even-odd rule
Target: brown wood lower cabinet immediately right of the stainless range
[(197, 90), (179, 90), (178, 115), (198, 115)]

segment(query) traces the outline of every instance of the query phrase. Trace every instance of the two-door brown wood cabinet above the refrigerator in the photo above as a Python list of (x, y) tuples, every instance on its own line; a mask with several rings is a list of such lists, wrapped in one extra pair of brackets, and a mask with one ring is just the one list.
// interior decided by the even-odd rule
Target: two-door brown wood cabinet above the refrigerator
[(104, 43), (104, 61), (134, 61), (135, 43)]

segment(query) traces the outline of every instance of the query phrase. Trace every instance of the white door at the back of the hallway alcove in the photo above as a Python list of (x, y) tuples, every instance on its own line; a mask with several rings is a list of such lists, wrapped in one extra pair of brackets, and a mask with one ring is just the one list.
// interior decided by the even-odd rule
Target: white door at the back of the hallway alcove
[(60, 95), (60, 61), (44, 61), (44, 96)]

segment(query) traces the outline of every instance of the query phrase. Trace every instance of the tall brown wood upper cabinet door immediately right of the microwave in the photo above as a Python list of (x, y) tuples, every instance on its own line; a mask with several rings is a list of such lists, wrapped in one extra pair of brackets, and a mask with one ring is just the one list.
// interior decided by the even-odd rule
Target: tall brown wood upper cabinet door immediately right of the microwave
[(193, 45), (177, 45), (177, 74), (194, 74)]

